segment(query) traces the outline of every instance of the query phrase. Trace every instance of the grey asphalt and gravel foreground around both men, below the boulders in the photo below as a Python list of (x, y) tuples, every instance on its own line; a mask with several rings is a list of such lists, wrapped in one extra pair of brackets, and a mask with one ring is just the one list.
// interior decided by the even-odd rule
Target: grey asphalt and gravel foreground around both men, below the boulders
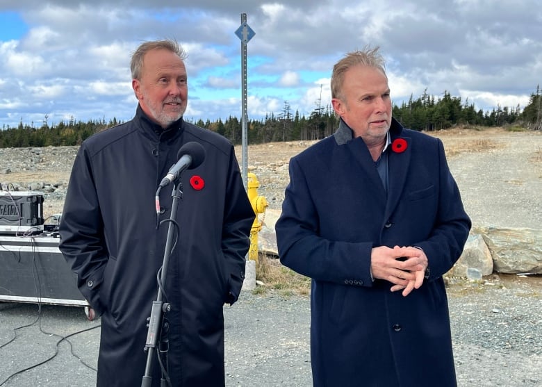
[[(541, 280), (448, 289), (459, 386), (542, 386)], [(308, 297), (241, 293), (224, 307), (226, 386), (310, 387), (309, 322)], [(0, 387), (95, 386), (98, 343), (81, 307), (0, 303)]]

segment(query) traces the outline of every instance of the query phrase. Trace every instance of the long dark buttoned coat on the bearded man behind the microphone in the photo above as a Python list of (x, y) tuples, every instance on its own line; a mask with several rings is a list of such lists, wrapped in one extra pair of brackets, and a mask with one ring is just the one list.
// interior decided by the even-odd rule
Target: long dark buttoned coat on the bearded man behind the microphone
[[(179, 234), (165, 284), (164, 301), (172, 306), (169, 370), (174, 386), (223, 386), (222, 308), (240, 293), (254, 211), (229, 141), (182, 119), (161, 134), (155, 129), (138, 107), (130, 122), (83, 142), (67, 190), (60, 250), (101, 315), (97, 386), (140, 386), (169, 224), (156, 229), (156, 189), (181, 146), (199, 142), (206, 157), (181, 175)], [(172, 188), (161, 190), (159, 221), (170, 218)], [(153, 361), (158, 386), (160, 367)]]

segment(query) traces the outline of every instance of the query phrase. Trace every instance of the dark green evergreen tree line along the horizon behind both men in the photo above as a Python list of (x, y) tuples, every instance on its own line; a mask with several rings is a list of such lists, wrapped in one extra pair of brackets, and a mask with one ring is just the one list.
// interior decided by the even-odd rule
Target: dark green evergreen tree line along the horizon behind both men
[[(529, 98), (529, 104), (523, 110), (520, 106), (497, 106), (491, 111), (476, 110), (468, 99), (452, 97), (445, 91), (443, 97), (435, 98), (427, 90), (417, 99), (412, 96), (400, 106), (393, 105), (393, 117), (404, 127), (416, 131), (434, 131), (448, 129), (457, 125), (465, 126), (520, 126), (529, 130), (542, 130), (542, 94), (539, 86)], [(0, 131), (0, 148), (6, 147), (60, 147), (81, 145), (90, 135), (111, 128), (122, 122), (113, 118), (106, 121), (76, 121), (73, 117), (68, 122), (48, 124), (48, 116), (39, 127), (34, 123), (23, 124), (16, 128), (3, 126)], [(308, 117), (293, 112), (288, 101), (278, 114), (271, 113), (261, 120), (247, 122), (247, 140), (249, 144), (265, 142), (284, 142), (294, 140), (319, 140), (334, 133), (339, 119), (330, 105), (321, 106), (317, 101), (315, 109)], [(230, 116), (227, 120), (197, 120), (192, 122), (211, 131), (224, 135), (234, 144), (242, 141), (241, 122)]]

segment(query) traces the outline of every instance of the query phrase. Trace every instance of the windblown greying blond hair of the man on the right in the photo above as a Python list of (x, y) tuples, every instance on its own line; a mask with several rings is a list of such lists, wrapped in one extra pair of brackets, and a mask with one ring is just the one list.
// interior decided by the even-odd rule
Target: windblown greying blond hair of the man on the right
[[(371, 48), (366, 46), (363, 50), (356, 50), (347, 53), (344, 58), (339, 60), (331, 72), (331, 98), (343, 97), (343, 81), (345, 72), (350, 67), (357, 65), (375, 67), (386, 76), (386, 63), (384, 57), (379, 53), (379, 47)], [(387, 76), (386, 76), (387, 77)]]

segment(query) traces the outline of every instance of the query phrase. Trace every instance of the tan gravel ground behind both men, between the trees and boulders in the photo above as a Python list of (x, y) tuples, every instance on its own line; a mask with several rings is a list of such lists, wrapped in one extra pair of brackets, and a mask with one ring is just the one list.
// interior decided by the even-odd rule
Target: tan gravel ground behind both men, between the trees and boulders
[[(432, 132), (443, 140), (450, 170), (475, 225), (542, 229), (542, 133), (502, 129)], [(279, 210), (288, 183), (290, 157), (314, 141), (251, 145), (249, 170), (258, 194)], [(62, 212), (77, 147), (0, 149), (0, 183), (55, 186), (45, 193), (44, 215)], [(241, 148), (236, 147), (241, 160)], [(6, 174), (6, 170), (10, 173)], [(154, 202), (152, 203), (154, 205)]]

